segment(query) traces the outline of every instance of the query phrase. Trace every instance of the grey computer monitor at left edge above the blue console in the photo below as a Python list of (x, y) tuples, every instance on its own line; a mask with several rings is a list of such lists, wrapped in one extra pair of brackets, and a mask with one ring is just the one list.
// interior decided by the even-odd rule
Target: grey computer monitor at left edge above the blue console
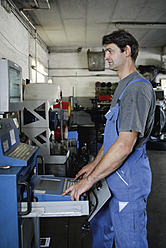
[(21, 110), (22, 68), (16, 63), (0, 59), (0, 113)]

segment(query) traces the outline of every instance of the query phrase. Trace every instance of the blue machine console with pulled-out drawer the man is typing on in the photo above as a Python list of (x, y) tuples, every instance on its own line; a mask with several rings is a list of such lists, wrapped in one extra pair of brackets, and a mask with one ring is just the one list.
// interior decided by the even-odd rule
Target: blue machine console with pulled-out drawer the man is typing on
[(38, 175), (38, 150), (37, 146), (20, 143), (13, 119), (0, 120), (2, 247), (39, 248), (40, 217), (85, 215), (90, 221), (111, 196), (105, 180), (95, 184), (88, 198), (82, 196), (80, 201), (61, 196), (73, 180)]

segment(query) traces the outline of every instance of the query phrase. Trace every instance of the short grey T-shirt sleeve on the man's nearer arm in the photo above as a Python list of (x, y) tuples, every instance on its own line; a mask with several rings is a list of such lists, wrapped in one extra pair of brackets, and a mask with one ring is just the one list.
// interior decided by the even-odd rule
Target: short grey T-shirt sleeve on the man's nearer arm
[(140, 83), (133, 83), (126, 89), (120, 102), (120, 132), (136, 131), (140, 138), (144, 136), (151, 105), (149, 87), (147, 83), (142, 83), (141, 87)]

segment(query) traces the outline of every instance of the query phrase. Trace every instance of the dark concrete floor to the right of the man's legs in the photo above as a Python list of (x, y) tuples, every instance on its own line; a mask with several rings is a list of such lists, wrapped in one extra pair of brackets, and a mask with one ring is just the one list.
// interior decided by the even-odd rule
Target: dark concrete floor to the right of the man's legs
[(166, 151), (147, 151), (153, 183), (148, 199), (149, 248), (166, 247)]

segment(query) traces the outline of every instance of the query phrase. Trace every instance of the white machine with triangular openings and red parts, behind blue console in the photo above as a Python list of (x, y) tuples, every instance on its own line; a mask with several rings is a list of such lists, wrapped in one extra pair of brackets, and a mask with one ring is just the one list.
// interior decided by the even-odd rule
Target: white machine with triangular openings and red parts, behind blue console
[(69, 114), (69, 103), (60, 101), (59, 86), (41, 83), (25, 87), (22, 132), (39, 147), (47, 164), (64, 164), (69, 157)]

